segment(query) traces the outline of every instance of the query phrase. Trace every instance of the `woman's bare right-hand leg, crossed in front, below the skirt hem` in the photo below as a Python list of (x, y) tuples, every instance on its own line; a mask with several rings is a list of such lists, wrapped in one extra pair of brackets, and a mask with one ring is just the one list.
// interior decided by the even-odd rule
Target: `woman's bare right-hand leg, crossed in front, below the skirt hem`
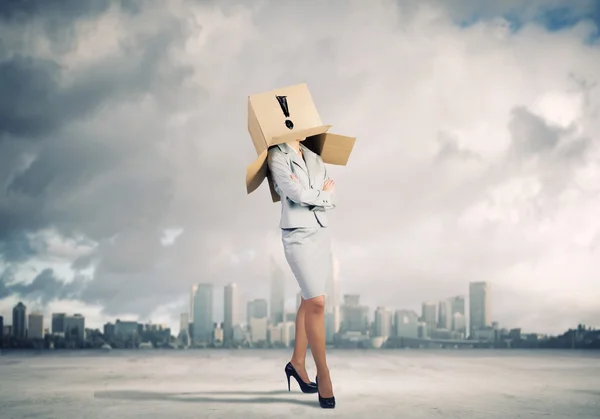
[(305, 306), (306, 336), (317, 365), (319, 392), (321, 397), (333, 397), (333, 385), (325, 359), (325, 297), (311, 298), (303, 301), (303, 304)]

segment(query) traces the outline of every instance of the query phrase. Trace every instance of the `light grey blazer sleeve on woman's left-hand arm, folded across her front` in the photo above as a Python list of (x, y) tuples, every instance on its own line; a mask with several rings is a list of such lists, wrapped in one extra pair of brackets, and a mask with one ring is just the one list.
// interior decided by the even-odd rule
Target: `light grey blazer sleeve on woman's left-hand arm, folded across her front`
[(277, 148), (269, 150), (269, 170), (275, 181), (275, 191), (293, 202), (303, 206), (330, 206), (331, 194), (319, 189), (305, 189), (298, 181), (292, 179), (292, 170), (283, 152)]

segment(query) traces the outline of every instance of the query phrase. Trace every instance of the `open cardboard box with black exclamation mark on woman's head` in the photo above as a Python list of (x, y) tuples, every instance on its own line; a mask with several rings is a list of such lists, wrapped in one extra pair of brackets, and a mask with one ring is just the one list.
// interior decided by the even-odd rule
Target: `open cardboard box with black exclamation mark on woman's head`
[(306, 83), (283, 87), (248, 97), (248, 132), (258, 158), (246, 168), (246, 190), (254, 192), (265, 177), (273, 202), (280, 200), (269, 173), (269, 147), (303, 140), (302, 144), (321, 156), (324, 163), (345, 166), (356, 138), (331, 134), (323, 125)]

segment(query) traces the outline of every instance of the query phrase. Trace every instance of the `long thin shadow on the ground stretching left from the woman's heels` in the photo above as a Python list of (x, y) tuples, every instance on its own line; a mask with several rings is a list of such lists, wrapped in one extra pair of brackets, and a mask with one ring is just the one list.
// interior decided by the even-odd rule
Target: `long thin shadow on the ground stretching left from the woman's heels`
[[(301, 395), (307, 397), (306, 400), (272, 397), (276, 395), (290, 394), (284, 390), (275, 391), (205, 391), (196, 393), (166, 393), (158, 391), (137, 391), (137, 390), (101, 390), (94, 392), (97, 399), (113, 400), (139, 400), (139, 401), (172, 401), (187, 403), (240, 403), (240, 404), (269, 404), (286, 403), (306, 407), (319, 407), (316, 394)], [(229, 397), (212, 397), (229, 396)], [(239, 397), (239, 396), (257, 396), (257, 397)], [(301, 397), (300, 396), (300, 397)]]

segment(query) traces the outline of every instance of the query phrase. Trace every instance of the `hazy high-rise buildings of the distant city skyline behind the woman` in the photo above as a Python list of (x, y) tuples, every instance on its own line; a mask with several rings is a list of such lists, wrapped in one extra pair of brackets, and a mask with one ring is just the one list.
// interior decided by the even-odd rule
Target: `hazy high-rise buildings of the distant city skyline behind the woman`
[[(250, 301), (241, 301), (238, 295), (238, 287), (236, 283), (229, 283), (223, 288), (223, 312), (222, 320), (219, 320), (219, 316), (215, 316), (213, 310), (213, 302), (215, 299), (215, 288), (209, 283), (198, 283), (194, 284), (190, 290), (190, 304), (186, 312), (180, 313), (179, 316), (179, 337), (181, 333), (189, 332), (192, 336), (191, 343), (193, 344), (206, 344), (214, 340), (215, 325), (218, 325), (219, 333), (222, 337), (219, 338), (224, 343), (231, 343), (233, 341), (234, 329), (238, 325), (242, 325), (247, 328), (251, 328), (254, 319), (264, 319), (262, 327), (266, 330), (270, 325), (277, 326), (280, 323), (293, 322), (293, 317), (297, 310), (297, 306), (300, 301), (300, 294), (296, 295), (296, 307), (290, 310), (284, 310), (281, 316), (273, 315), (273, 311), (270, 308), (271, 305), (279, 306), (280, 304), (280, 290), (281, 285), (274, 284), (273, 280), (278, 281), (281, 279), (280, 270), (271, 263), (271, 285), (275, 286), (278, 291), (270, 294), (270, 300), (267, 299), (254, 299)], [(337, 282), (337, 275), (333, 277), (334, 284)], [(334, 290), (339, 292), (337, 286), (334, 285)], [(483, 290), (483, 296), (482, 296)], [(335, 296), (336, 292), (333, 292)], [(363, 303), (360, 303), (360, 295), (356, 294), (344, 294), (343, 301), (332, 298), (328, 299), (326, 303), (326, 316), (325, 323), (327, 329), (328, 341), (333, 339), (333, 335), (339, 332), (361, 332), (367, 334), (374, 334), (374, 336), (387, 336), (384, 335), (383, 330), (394, 330), (397, 329), (396, 323), (398, 322), (398, 316), (409, 316), (417, 319), (417, 322), (423, 324), (426, 329), (425, 333), (427, 336), (435, 334), (436, 331), (452, 331), (457, 332), (463, 338), (477, 336), (477, 332), (483, 329), (490, 329), (497, 327), (499, 324), (494, 321), (491, 316), (492, 298), (490, 293), (489, 284), (486, 282), (471, 282), (469, 283), (468, 297), (464, 295), (454, 295), (451, 297), (445, 297), (438, 302), (432, 302), (430, 300), (423, 301), (421, 303), (421, 311), (417, 313), (415, 310), (398, 307), (385, 307), (377, 306), (374, 311)], [(469, 301), (469, 311), (465, 310), (465, 301)], [(243, 307), (246, 308), (246, 317), (242, 317)], [(473, 310), (473, 315), (471, 315)], [(193, 316), (190, 315), (193, 313)], [(277, 311), (275, 312), (277, 313)], [(404, 314), (403, 314), (404, 313)], [(483, 313), (483, 314), (482, 314)], [(288, 317), (291, 319), (288, 320)], [(31, 321), (33, 317), (39, 317), (36, 320), (36, 335), (41, 334), (41, 330), (44, 329), (43, 314), (34, 311), (26, 314), (26, 308), (19, 302), (13, 308), (13, 321), (16, 321), (17, 328), (8, 325), (12, 330), (12, 335), (17, 337), (23, 337), (28, 331), (29, 318)], [(474, 320), (471, 320), (473, 316)], [(482, 319), (483, 316), (483, 319)], [(65, 313), (51, 313), (51, 333), (56, 333), (56, 330), (70, 329), (73, 326), (66, 326), (68, 322), (73, 322), (73, 318), (83, 318), (81, 314), (67, 315)], [(195, 320), (195, 321), (194, 321)], [(128, 322), (126, 319), (121, 321)], [(383, 322), (383, 323), (382, 323)], [(82, 323), (83, 324), (83, 323)], [(83, 325), (79, 325), (79, 330), (83, 330)], [(148, 324), (152, 324), (150, 321)], [(382, 325), (383, 324), (383, 325)], [(415, 324), (416, 325), (416, 324)], [(467, 325), (469, 326), (469, 332), (467, 333)], [(496, 325), (496, 326), (494, 326)], [(191, 327), (189, 327), (191, 326)], [(503, 325), (506, 326), (506, 325)], [(106, 327), (106, 325), (104, 325)], [(169, 329), (175, 330), (172, 326), (165, 326)], [(86, 329), (90, 328), (88, 327)], [(506, 327), (504, 327), (506, 329)], [(519, 328), (520, 330), (521, 328)], [(282, 332), (283, 333), (283, 332)], [(286, 333), (290, 333), (286, 331)], [(419, 332), (421, 333), (421, 332)], [(292, 333), (293, 334), (293, 333)], [(391, 336), (390, 334), (389, 336)], [(459, 336), (457, 335), (457, 336)], [(189, 336), (188, 336), (189, 337)]]

